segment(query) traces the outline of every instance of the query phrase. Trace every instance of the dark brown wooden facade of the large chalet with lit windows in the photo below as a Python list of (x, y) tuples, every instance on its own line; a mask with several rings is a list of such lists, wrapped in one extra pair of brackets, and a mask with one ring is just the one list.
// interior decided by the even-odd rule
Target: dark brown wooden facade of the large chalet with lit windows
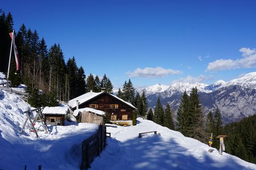
[[(94, 108), (104, 111), (110, 120), (131, 120), (135, 108), (119, 100), (107, 92), (104, 92), (85, 103), (80, 103), (79, 108)], [(73, 108), (74, 110), (76, 108)]]

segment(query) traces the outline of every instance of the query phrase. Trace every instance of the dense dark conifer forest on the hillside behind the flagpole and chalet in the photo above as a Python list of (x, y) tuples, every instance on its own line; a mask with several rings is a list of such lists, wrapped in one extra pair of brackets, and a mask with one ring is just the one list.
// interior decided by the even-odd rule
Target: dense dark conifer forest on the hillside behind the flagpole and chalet
[[(13, 32), (14, 21), (11, 13), (1, 10), (0, 16), (0, 71), (7, 73), (11, 48), (10, 32)], [(41, 38), (42, 37), (42, 38)], [(94, 92), (112, 92), (110, 79), (102, 75), (89, 74), (87, 77), (83, 67), (77, 66), (75, 57), (64, 58), (60, 44), (57, 42), (47, 46), (47, 40), (39, 36), (36, 30), (22, 24), (15, 31), (15, 44), (19, 53), (20, 70), (15, 69), (14, 54), (11, 57), (11, 86), (26, 84), (30, 93), (30, 103), (34, 107), (56, 105), (56, 100), (68, 101), (90, 90)], [(56, 40), (57, 41), (57, 40)], [(86, 59), (86, 58), (85, 58)]]

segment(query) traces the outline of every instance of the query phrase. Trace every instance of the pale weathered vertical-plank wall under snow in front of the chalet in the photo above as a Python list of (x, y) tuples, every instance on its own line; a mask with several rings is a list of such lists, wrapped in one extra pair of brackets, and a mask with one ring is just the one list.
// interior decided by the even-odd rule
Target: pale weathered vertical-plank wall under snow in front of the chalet
[(93, 112), (82, 112), (81, 115), (81, 122), (89, 123), (89, 124), (96, 124), (96, 125), (104, 125), (103, 117), (93, 113)]

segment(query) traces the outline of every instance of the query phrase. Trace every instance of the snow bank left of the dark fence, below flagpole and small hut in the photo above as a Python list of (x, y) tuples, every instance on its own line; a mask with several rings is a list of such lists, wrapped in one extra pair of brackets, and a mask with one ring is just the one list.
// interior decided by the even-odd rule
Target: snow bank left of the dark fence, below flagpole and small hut
[(0, 169), (79, 169), (81, 142), (96, 132), (97, 125), (49, 126), (50, 134), (39, 131), (36, 138), (27, 123), (20, 134), (23, 112), (30, 109), (14, 94), (0, 90)]

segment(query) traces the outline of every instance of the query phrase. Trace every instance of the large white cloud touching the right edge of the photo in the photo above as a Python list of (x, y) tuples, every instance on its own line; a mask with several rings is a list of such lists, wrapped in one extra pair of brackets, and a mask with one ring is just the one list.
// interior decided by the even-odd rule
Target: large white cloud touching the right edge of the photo
[(241, 48), (242, 58), (240, 59), (217, 59), (208, 63), (206, 71), (233, 70), (256, 67), (256, 51), (250, 48)]

